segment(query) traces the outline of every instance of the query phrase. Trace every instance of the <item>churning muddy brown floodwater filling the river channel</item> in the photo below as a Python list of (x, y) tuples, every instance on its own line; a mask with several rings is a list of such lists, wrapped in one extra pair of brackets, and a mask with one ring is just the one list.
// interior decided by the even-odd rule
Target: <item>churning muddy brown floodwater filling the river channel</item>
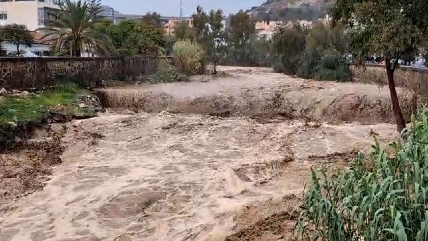
[[(192, 101), (188, 95), (212, 96), (214, 90), (233, 95), (238, 89), (247, 91), (246, 85), (253, 90), (284, 83), (290, 89), (294, 84), (323, 86), (323, 93), (337, 93), (344, 86), (354, 96), (368, 89), (364, 94), (371, 98), (384, 91), (377, 86), (301, 83), (266, 69), (227, 71), (235, 74), (226, 77), (236, 81), (230, 86), (222, 78), (206, 77), (138, 89), (153, 94), (164, 88), (178, 102), (180, 95)], [(205, 84), (212, 90), (203, 90)], [(123, 96), (137, 88), (107, 91)], [(0, 218), (0, 240), (285, 240), (310, 167), (344, 167), (357, 150), (369, 147), (371, 135), (382, 142), (396, 135), (388, 123), (363, 125), (339, 118), (332, 124), (316, 116), (310, 121), (284, 116), (260, 121), (244, 112), (218, 116), (168, 109), (176, 106), (155, 113), (110, 110), (74, 121), (64, 137), (68, 148), (63, 163), (54, 167), (43, 190), (19, 199)]]

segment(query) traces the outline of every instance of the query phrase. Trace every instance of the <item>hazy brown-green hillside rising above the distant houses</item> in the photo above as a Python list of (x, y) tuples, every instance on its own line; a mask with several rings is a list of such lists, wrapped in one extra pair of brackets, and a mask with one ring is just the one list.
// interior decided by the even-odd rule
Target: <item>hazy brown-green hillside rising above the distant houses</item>
[(262, 20), (316, 20), (324, 18), (334, 0), (268, 0), (247, 12), (256, 21)]

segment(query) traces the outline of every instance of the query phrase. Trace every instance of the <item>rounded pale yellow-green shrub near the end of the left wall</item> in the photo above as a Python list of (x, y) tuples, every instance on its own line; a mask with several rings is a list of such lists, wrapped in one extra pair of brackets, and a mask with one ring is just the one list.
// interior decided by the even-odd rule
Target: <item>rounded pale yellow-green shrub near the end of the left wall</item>
[(190, 40), (177, 41), (172, 50), (175, 67), (182, 74), (199, 74), (204, 66), (204, 51)]

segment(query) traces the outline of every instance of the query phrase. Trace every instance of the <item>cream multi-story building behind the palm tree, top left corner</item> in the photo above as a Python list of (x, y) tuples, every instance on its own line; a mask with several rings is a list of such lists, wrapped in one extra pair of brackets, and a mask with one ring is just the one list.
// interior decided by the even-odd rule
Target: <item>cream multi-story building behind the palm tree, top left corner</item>
[(55, 18), (62, 0), (0, 0), (0, 24), (24, 24), (30, 31)]

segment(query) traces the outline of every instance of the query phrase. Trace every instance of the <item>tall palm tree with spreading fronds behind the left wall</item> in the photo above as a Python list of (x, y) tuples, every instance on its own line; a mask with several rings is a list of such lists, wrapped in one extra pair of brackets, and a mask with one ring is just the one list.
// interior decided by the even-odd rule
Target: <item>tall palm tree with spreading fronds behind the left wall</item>
[(95, 16), (98, 11), (91, 11), (88, 4), (78, 0), (65, 0), (56, 20), (49, 21), (44, 39), (52, 42), (52, 48), (59, 50), (68, 48), (70, 56), (80, 57), (82, 51), (95, 50), (100, 54), (114, 51), (110, 38), (94, 28)]

